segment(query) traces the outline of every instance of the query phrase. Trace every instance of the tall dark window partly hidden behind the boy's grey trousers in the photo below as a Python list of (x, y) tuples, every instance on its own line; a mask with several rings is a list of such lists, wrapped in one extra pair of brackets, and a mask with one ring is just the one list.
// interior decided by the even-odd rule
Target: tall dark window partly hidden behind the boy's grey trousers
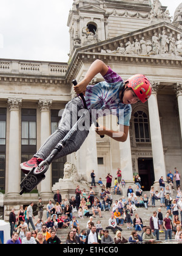
[[(58, 116), (59, 110), (51, 110), (51, 133), (55, 132), (58, 128), (60, 116)], [(64, 176), (64, 163), (66, 163), (66, 157), (61, 157), (52, 162), (52, 185), (62, 179)]]

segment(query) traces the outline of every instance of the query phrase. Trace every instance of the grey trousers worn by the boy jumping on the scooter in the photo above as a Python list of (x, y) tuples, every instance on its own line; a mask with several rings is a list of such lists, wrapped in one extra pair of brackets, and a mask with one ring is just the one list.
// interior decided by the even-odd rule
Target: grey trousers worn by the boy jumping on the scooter
[[(52, 135), (50, 135), (49, 138), (47, 138), (45, 143), (41, 146), (39, 151), (36, 152), (34, 157), (39, 157), (42, 160), (45, 160), (45, 158), (50, 155), (50, 153), (59, 143), (59, 141), (61, 141), (66, 136), (72, 126), (79, 119), (78, 113), (79, 115), (81, 115), (81, 112), (83, 111), (85, 110), (83, 107), (83, 102), (80, 98), (75, 98), (72, 99), (72, 101), (68, 102), (66, 108), (64, 108), (64, 112), (62, 113), (62, 118), (61, 122), (59, 123), (58, 129)], [(89, 112), (87, 112), (87, 115), (85, 117), (85, 123), (87, 124), (86, 129), (84, 129), (84, 127), (78, 127), (76, 132), (67, 141), (66, 146), (62, 149), (61, 152), (58, 153), (58, 155), (56, 155), (55, 159), (64, 157), (78, 151), (78, 149), (84, 143), (84, 140), (86, 140), (89, 134), (89, 127), (91, 125)]]

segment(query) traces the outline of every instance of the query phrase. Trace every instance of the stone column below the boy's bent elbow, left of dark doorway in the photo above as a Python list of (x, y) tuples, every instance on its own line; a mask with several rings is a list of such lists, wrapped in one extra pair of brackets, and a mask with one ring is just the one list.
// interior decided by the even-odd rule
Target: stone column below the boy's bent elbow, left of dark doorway
[(129, 185), (133, 185), (132, 152), (130, 145), (130, 134), (127, 135), (125, 142), (120, 142), (120, 167), (122, 179), (126, 182), (126, 191)]

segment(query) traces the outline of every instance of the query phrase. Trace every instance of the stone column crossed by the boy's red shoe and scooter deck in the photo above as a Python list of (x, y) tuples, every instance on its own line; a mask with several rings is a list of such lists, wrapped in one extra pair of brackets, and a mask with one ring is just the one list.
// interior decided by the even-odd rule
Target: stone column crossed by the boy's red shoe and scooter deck
[[(52, 100), (39, 99), (39, 108), (41, 110), (41, 145), (50, 136), (50, 107)], [(41, 196), (49, 199), (52, 194), (52, 173), (51, 168), (45, 173), (45, 179), (41, 182)]]

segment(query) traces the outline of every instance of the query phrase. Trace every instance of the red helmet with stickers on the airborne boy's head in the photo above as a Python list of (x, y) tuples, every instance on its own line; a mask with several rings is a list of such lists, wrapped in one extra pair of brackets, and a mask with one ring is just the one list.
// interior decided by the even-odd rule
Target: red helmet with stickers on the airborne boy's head
[(125, 83), (127, 83), (128, 88), (132, 88), (136, 96), (140, 99), (142, 103), (146, 102), (150, 98), (152, 93), (152, 85), (150, 84), (149, 79), (143, 74), (136, 74)]

